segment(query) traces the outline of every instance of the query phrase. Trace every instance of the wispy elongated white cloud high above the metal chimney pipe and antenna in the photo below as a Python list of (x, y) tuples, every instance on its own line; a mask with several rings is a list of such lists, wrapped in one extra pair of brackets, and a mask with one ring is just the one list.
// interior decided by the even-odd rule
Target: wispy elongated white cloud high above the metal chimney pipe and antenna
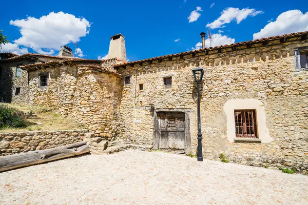
[(222, 25), (229, 24), (232, 20), (236, 20), (236, 23), (239, 24), (247, 16), (255, 16), (257, 14), (263, 13), (262, 11), (256, 11), (256, 9), (239, 9), (229, 7), (223, 10), (220, 16), (214, 20), (214, 22), (207, 24), (206, 27), (211, 29), (222, 28)]

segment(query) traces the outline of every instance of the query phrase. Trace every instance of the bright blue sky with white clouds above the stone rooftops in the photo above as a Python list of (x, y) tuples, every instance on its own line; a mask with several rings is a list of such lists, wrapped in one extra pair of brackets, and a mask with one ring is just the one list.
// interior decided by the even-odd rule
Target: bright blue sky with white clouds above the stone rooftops
[(71, 40), (80, 57), (98, 59), (108, 53), (110, 36), (122, 33), (133, 61), (198, 49), (208, 28), (214, 46), (308, 30), (308, 7), (292, 1), (5, 1), (2, 7), (0, 29), (11, 42), (2, 52), (18, 54), (57, 55)]

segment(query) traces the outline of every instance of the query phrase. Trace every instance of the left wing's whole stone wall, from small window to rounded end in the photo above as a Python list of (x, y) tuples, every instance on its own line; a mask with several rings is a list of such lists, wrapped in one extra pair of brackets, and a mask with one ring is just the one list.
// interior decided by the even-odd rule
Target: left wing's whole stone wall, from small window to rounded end
[[(111, 140), (119, 131), (117, 114), (122, 76), (115, 73), (117, 58), (91, 64), (51, 65), (29, 71), (29, 102), (59, 108), (95, 132), (94, 137)], [(48, 74), (48, 86), (38, 86), (39, 75)]]

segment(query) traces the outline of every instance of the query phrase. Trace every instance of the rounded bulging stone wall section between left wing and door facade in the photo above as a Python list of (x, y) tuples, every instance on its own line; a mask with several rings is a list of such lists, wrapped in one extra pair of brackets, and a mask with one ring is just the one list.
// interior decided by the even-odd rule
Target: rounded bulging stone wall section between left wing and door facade
[(118, 133), (122, 77), (82, 67), (74, 96), (72, 116), (95, 132), (95, 137), (111, 140)]

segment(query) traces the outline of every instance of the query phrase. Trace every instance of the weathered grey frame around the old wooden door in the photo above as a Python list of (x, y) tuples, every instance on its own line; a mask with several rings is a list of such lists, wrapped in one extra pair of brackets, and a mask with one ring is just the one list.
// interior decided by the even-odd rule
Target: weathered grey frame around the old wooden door
[(192, 109), (156, 109), (153, 113), (153, 149), (158, 150), (159, 140), (159, 120), (158, 112), (182, 112), (185, 117), (185, 154), (191, 153), (191, 138), (190, 138), (190, 119), (189, 112), (193, 112)]

